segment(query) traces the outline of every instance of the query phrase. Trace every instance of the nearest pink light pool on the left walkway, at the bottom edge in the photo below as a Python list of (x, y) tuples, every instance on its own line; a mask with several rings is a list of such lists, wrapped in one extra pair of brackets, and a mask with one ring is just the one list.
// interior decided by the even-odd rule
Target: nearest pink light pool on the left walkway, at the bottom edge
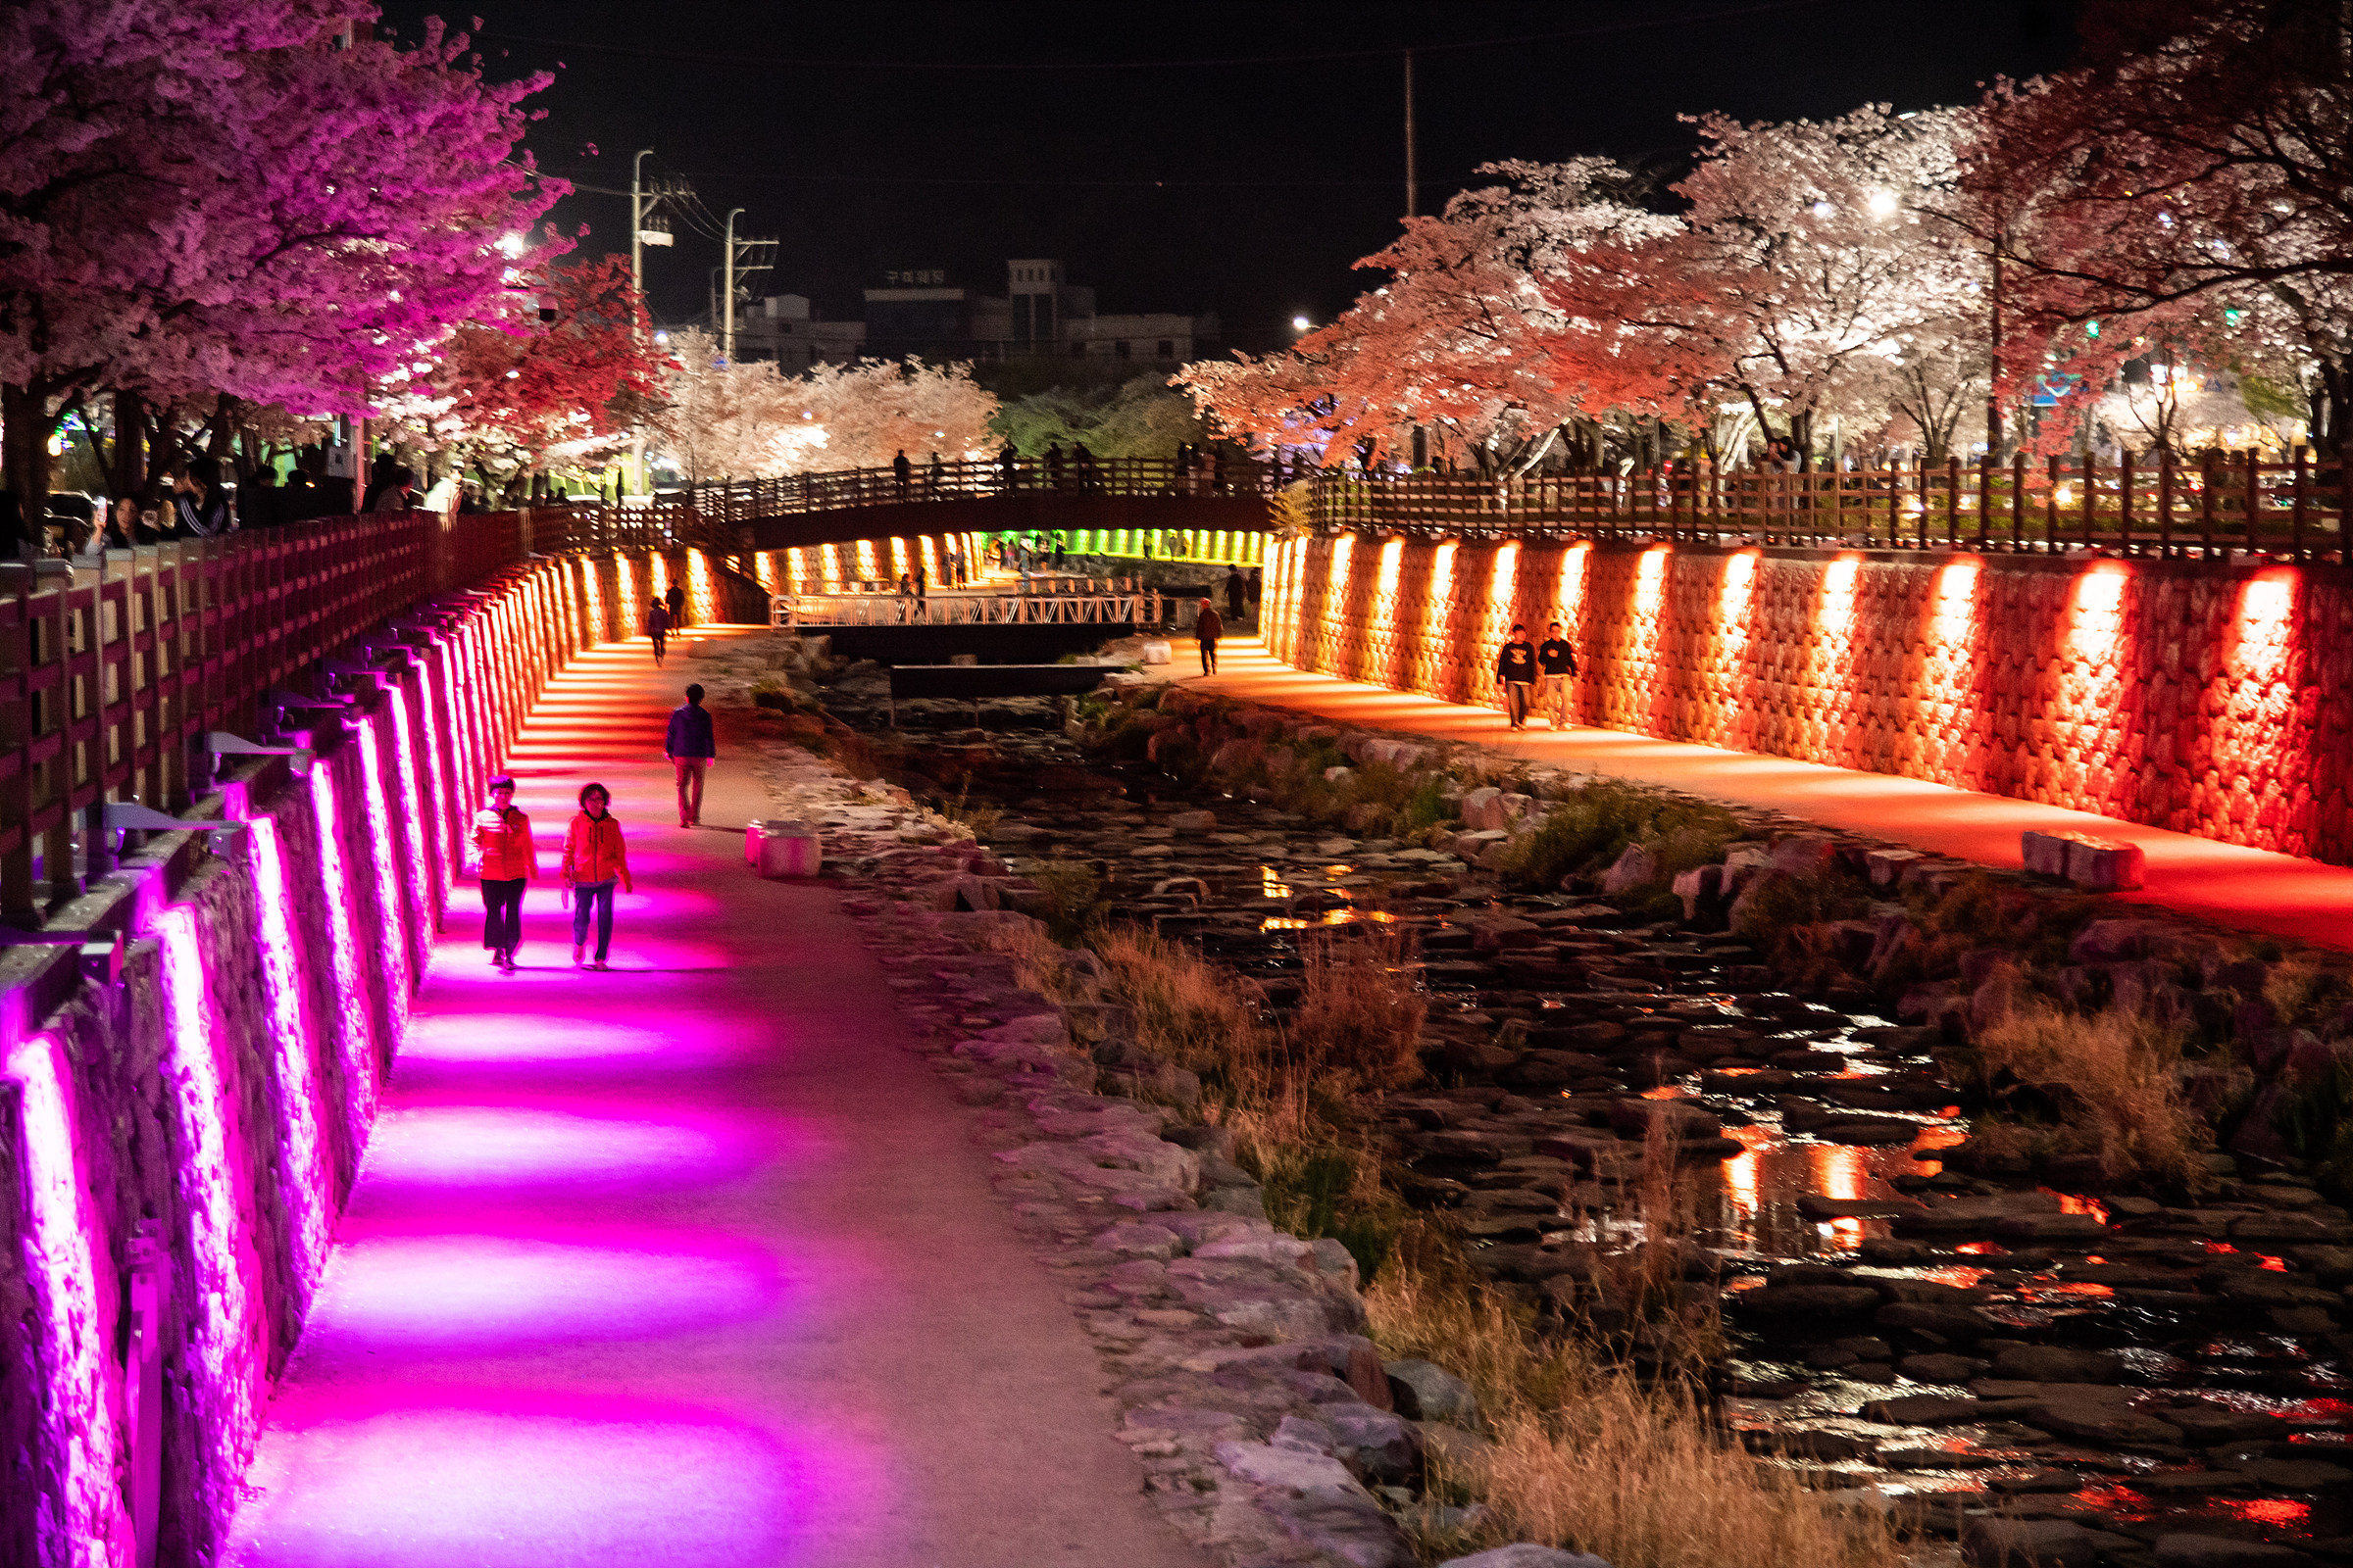
[(854, 1432), (685, 1401), (344, 1382), (294, 1389), (278, 1418), (332, 1434), (336, 1465), (252, 1542), (273, 1563), (774, 1568), (807, 1514), (892, 1507), (887, 1460)]

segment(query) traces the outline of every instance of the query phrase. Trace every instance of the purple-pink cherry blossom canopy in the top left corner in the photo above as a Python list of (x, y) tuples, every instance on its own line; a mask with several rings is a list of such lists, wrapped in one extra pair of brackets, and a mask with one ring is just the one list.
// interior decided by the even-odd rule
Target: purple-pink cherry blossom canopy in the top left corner
[(0, 9), (0, 425), (47, 489), (64, 400), (118, 388), (362, 411), (506, 287), (560, 193), (515, 153), (546, 78), (341, 0)]

